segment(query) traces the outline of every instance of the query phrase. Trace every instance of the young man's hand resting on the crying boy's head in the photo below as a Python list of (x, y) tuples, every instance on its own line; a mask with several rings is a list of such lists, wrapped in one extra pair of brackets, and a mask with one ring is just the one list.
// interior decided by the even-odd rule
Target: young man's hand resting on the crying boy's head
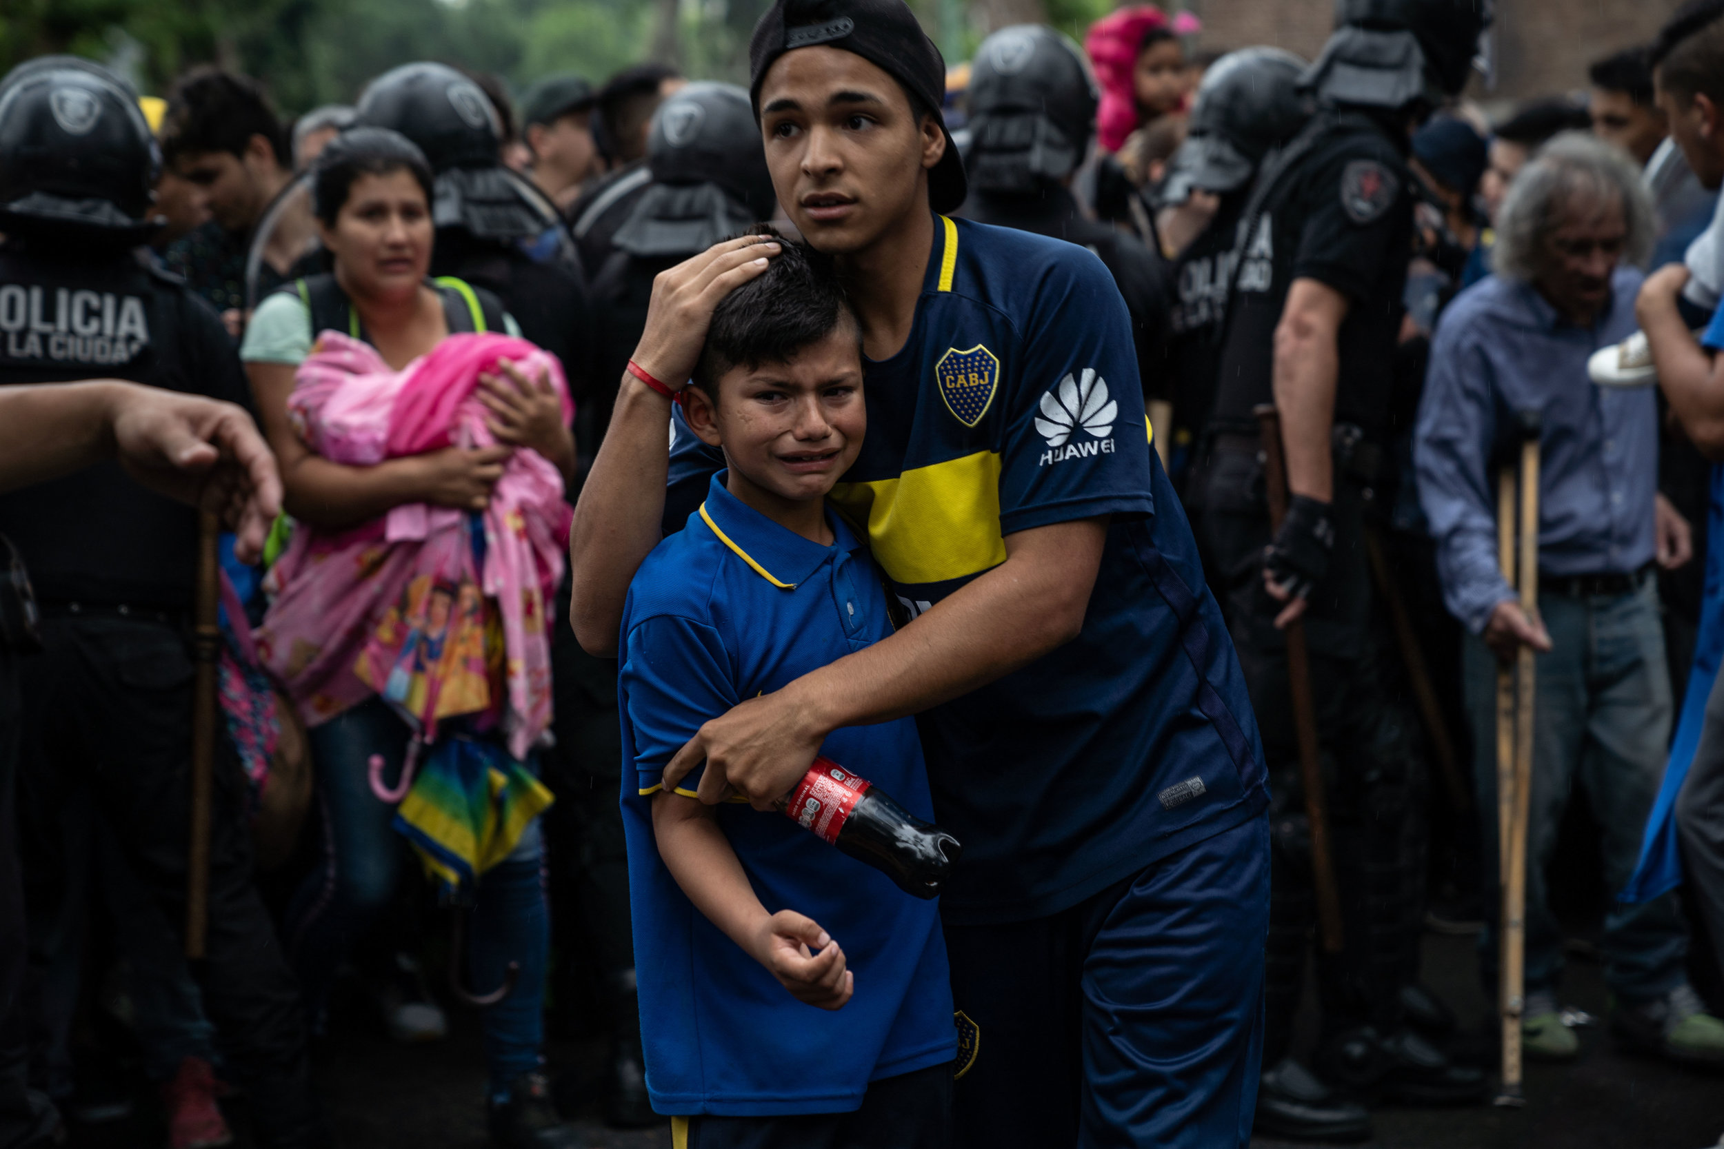
[(712, 308), (726, 295), (765, 270), (779, 253), (771, 236), (740, 236), (715, 243), (652, 281), (646, 329), (634, 348), (634, 363), (667, 388), (681, 388), (695, 374), (707, 341)]

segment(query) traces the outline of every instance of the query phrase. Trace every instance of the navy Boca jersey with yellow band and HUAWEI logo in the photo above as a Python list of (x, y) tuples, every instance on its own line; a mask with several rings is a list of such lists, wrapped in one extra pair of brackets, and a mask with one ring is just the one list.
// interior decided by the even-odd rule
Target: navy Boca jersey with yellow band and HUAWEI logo
[[(1245, 679), (1138, 379), (1102, 260), (946, 217), (910, 338), (865, 363), (867, 438), (831, 501), (912, 615), (1005, 562), (1003, 536), (1110, 515), (1083, 632), (917, 718), (934, 811), (964, 842), (952, 922), (1055, 913), (1267, 806)], [(679, 431), (672, 455), (672, 496), (703, 493), (698, 439)]]

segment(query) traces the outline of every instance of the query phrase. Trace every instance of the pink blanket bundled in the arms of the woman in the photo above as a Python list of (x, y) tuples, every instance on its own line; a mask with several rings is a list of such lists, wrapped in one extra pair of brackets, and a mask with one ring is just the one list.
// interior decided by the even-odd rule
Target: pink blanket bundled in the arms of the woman
[[(350, 467), (445, 446), (493, 446), (476, 389), (479, 376), (500, 374), (503, 360), (528, 377), (548, 372), (564, 417), (572, 413), (557, 358), (524, 339), (448, 336), (391, 370), (369, 345), (326, 331), (300, 363), (288, 417), (310, 450)], [(274, 601), (257, 646), (307, 725), (381, 689), (379, 655), (393, 653), (383, 648), (409, 599), (417, 601), (428, 581), (459, 579), (462, 562), (471, 568), (467, 522), (467, 512), (409, 503), (350, 531), (295, 525), (265, 582)], [(536, 451), (517, 450), (491, 491), (483, 529), (484, 563), (476, 574), (502, 622), (507, 684), (507, 698), (490, 708), (500, 711), (510, 753), (526, 758), (552, 717), (545, 598), (562, 579), (569, 537), (562, 475)], [(431, 710), (409, 713), (428, 741), (440, 713), (448, 713), (434, 705), (436, 691)]]

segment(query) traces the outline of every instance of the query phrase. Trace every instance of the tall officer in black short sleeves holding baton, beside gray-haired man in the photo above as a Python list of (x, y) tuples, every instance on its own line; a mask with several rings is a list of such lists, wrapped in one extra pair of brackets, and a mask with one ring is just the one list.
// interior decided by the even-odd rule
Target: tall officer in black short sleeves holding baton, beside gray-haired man
[[(1303, 615), (1315, 724), (1327, 779), (1345, 947), (1324, 954), (1317, 1068), (1360, 1096), (1459, 1102), (1481, 1071), (1450, 1063), (1409, 1025), (1407, 946), (1415, 913), (1405, 849), (1422, 787), (1412, 717), (1384, 687), (1372, 630), (1364, 508), (1391, 398), (1412, 243), (1405, 157), (1412, 129), (1452, 98), (1488, 22), (1483, 0), (1343, 0), (1340, 26), (1303, 86), (1305, 129), (1264, 162), (1234, 248), (1233, 291), (1212, 417), (1205, 527), (1229, 598), (1229, 625), (1276, 784), (1274, 901), (1259, 1127), (1326, 1128), (1333, 1099), (1290, 1061), (1312, 918), (1286, 644)], [(1253, 408), (1284, 429), (1291, 506), (1271, 537)], [(1424, 1018), (1431, 1020), (1431, 1018)]]

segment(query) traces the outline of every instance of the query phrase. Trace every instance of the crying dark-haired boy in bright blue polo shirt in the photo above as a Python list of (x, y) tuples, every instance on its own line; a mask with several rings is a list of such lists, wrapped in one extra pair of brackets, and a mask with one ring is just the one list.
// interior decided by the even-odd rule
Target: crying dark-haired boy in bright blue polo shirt
[[(865, 424), (855, 319), (831, 269), (786, 246), (712, 317), (688, 425), (728, 470), (641, 563), (622, 618), (646, 1089), (679, 1149), (950, 1140), (934, 904), (772, 810), (702, 803), (698, 768), (662, 777), (709, 718), (891, 634), (867, 546), (826, 506)], [(822, 753), (933, 818), (910, 718), (833, 730)]]

